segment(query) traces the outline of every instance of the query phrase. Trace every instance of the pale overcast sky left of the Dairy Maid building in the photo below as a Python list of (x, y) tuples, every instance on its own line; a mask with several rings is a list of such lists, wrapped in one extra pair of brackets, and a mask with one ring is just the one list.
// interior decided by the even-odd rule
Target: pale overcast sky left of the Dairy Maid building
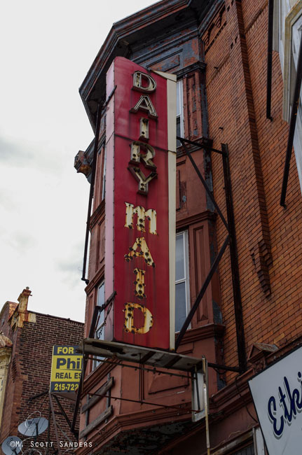
[(74, 156), (93, 138), (78, 94), (111, 25), (148, 0), (1, 2), (0, 308), (84, 320), (89, 185)]

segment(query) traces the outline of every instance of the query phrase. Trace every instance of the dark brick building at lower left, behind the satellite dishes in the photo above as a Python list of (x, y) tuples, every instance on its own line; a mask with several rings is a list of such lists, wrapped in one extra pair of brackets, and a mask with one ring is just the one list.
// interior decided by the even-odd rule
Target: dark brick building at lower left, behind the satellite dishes
[[(1, 418), (0, 442), (11, 435), (25, 440), (26, 436), (18, 433), (18, 425), (27, 418), (42, 416), (49, 419), (48, 391), (53, 345), (78, 345), (83, 337), (83, 323), (27, 311), (29, 295), (30, 291), (24, 290), (20, 295), (22, 300), (19, 304), (6, 302), (1, 311), (1, 333), (11, 339), (12, 346), (8, 377), (2, 392), (4, 409)], [(47, 393), (34, 398), (45, 392)], [(72, 419), (74, 401), (62, 397), (59, 399), (69, 419)], [(57, 424), (70, 440), (76, 441), (55, 398), (53, 398), (53, 405)], [(58, 431), (60, 441), (68, 442), (62, 431)], [(47, 440), (48, 431), (46, 430), (37, 441), (43, 444)], [(50, 417), (50, 442), (53, 442), (50, 446), (50, 453), (53, 453), (57, 448), (57, 442), (52, 416)], [(29, 447), (29, 444), (30, 440), (27, 440), (24, 449)]]

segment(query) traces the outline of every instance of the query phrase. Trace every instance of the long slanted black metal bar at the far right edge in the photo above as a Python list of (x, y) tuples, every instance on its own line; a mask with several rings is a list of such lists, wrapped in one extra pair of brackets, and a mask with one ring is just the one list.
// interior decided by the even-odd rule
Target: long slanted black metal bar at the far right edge
[(298, 104), (300, 99), (300, 92), (301, 92), (301, 80), (302, 80), (302, 34), (301, 34), (301, 41), (300, 41), (300, 48), (298, 54), (298, 64), (296, 69), (296, 83), (294, 88), (294, 97), (293, 97), (293, 106), (291, 108), (291, 118), (289, 121), (289, 137), (287, 140), (287, 151), (285, 156), (284, 162), (284, 173), (283, 173), (283, 181), (282, 181), (282, 190), (281, 190), (281, 197), (280, 197), (280, 205), (286, 209), (285, 204), (285, 197), (287, 195), (287, 182), (289, 179), (289, 165), (291, 161), (291, 151), (293, 148), (294, 142), (294, 134), (296, 129), (296, 118), (298, 112)]

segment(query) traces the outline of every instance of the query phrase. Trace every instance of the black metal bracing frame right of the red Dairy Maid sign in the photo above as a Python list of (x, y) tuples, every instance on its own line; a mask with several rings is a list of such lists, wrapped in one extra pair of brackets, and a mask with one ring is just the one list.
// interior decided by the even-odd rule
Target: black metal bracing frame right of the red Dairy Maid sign
[[(196, 297), (196, 300), (189, 311), (188, 316), (186, 317), (186, 321), (184, 321), (181, 330), (179, 331), (179, 335), (175, 342), (175, 351), (177, 351), (179, 344), (181, 343), (181, 339), (184, 337), (184, 334), (190, 325), (192, 318), (195, 314), (195, 311), (198, 309), (198, 305), (205, 295), (205, 291), (207, 290), (207, 286), (209, 286), (212, 276), (214, 272), (217, 270), (219, 265), (219, 261), (221, 260), (224, 251), (226, 250), (226, 246), (229, 244), (230, 246), (230, 257), (231, 257), (231, 270), (232, 270), (232, 284), (233, 284), (233, 298), (234, 298), (234, 309), (235, 309), (235, 325), (236, 325), (236, 335), (237, 335), (237, 346), (238, 346), (238, 363), (239, 363), (239, 372), (243, 372), (247, 370), (247, 357), (245, 353), (245, 334), (243, 329), (243, 317), (242, 317), (242, 302), (241, 302), (241, 292), (240, 292), (240, 276), (239, 276), (239, 265), (238, 265), (238, 251), (236, 245), (236, 235), (235, 235), (235, 218), (233, 213), (233, 197), (232, 197), (232, 188), (231, 188), (231, 172), (230, 172), (230, 165), (228, 162), (228, 146), (226, 144), (221, 144), (221, 151), (217, 151), (216, 149), (200, 143), (200, 141), (188, 141), (182, 137), (177, 137), (177, 139), (181, 142), (181, 146), (184, 148), (186, 155), (188, 156), (189, 160), (191, 161), (196, 174), (200, 178), (200, 181), (203, 183), (203, 186), (207, 192), (207, 195), (210, 197), (210, 200), (214, 204), (217, 213), (219, 214), (221, 221), (224, 223), (228, 235), (224, 241), (224, 244), (221, 246), (217, 257), (215, 258), (210, 272), (207, 274), (207, 277), (203, 283), (203, 286), (200, 288), (200, 292)], [(222, 156), (223, 167), (224, 167), (224, 188), (226, 191), (226, 212), (228, 221), (224, 218), (221, 210), (217, 202), (214, 200), (214, 196), (212, 194), (212, 190), (207, 186), (205, 179), (198, 169), (195, 161), (192, 158), (191, 151), (188, 150), (186, 144), (192, 144), (195, 146), (199, 146), (200, 148), (205, 148), (207, 151), (213, 151), (219, 153)], [(209, 365), (210, 366), (210, 365)]]

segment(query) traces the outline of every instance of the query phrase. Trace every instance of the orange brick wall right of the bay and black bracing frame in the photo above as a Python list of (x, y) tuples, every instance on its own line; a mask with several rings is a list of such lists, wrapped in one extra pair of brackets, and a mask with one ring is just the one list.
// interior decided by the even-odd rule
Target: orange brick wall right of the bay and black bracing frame
[[(219, 24), (220, 28), (213, 24)], [(203, 39), (210, 138), (228, 144), (240, 267), (246, 353), (253, 342), (283, 346), (301, 335), (301, 191), (294, 155), (287, 209), (280, 192), (288, 125), (282, 120), (282, 74), (273, 53), (273, 122), (266, 119), (267, 1), (226, 1)], [(224, 208), (221, 158), (213, 159), (214, 196)], [(217, 221), (219, 246), (226, 230)], [(219, 265), (226, 325), (226, 365), (237, 365), (231, 267)]]

